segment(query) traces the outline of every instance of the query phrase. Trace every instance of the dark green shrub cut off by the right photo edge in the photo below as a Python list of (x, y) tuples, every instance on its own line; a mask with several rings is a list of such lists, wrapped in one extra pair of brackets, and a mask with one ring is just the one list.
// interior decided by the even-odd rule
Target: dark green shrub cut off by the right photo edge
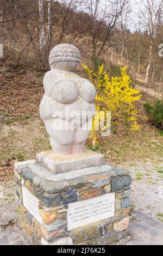
[(163, 129), (163, 101), (157, 100), (153, 106), (146, 102), (144, 103), (144, 107), (149, 120), (151, 120), (155, 126)]

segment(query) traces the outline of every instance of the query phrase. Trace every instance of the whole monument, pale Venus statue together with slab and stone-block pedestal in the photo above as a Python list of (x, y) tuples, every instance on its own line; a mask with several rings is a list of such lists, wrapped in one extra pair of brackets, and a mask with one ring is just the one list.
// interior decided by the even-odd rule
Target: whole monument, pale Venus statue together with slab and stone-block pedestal
[(28, 245), (108, 245), (127, 235), (131, 177), (105, 163), (104, 155), (84, 149), (96, 90), (74, 73), (79, 63), (75, 46), (52, 49), (40, 115), (53, 150), (15, 163), (18, 227)]

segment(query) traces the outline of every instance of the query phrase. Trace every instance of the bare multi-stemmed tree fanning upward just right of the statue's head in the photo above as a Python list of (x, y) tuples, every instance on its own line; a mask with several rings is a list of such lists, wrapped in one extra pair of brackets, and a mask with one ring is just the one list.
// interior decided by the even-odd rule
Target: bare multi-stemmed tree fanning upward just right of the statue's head
[(85, 0), (84, 8), (89, 14), (87, 35), (91, 39), (93, 59), (99, 58), (111, 46), (113, 28), (127, 0)]

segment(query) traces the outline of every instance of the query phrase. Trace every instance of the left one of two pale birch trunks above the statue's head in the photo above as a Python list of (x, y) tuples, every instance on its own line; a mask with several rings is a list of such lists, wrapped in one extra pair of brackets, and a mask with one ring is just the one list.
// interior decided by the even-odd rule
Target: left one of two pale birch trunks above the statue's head
[(45, 31), (43, 27), (43, 0), (39, 0), (39, 22), (40, 22), (40, 49), (45, 46)]

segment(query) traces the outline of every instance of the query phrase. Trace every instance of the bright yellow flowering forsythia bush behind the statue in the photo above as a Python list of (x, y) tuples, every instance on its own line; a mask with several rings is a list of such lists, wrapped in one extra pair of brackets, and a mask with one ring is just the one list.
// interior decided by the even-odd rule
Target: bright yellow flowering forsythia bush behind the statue
[[(88, 77), (96, 88), (96, 111), (110, 111), (111, 121), (117, 126), (122, 121), (128, 121), (131, 130), (139, 130), (137, 125), (138, 111), (134, 105), (141, 98), (140, 92), (130, 86), (130, 77), (127, 74), (127, 66), (121, 68), (121, 76), (109, 77), (104, 71), (104, 64), (99, 66), (97, 72), (82, 64)], [(93, 140), (97, 140), (95, 124), (91, 132)]]

